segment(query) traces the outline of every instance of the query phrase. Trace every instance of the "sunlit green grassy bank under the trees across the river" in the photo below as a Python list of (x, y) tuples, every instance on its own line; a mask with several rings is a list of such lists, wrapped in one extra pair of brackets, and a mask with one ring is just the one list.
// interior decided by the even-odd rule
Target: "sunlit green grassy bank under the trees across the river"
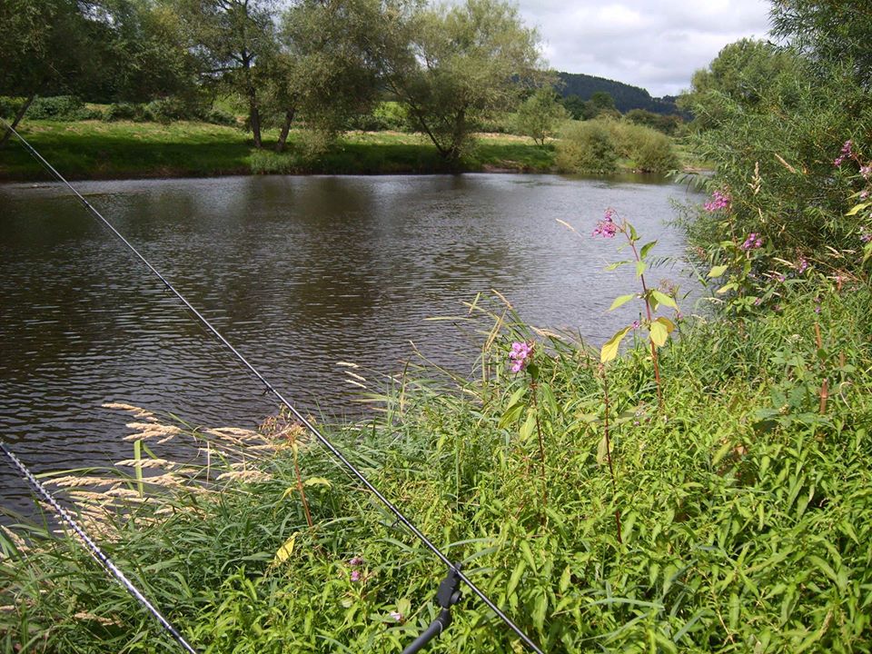
[[(276, 154), (274, 131), (264, 134), (263, 150), (233, 127), (177, 122), (56, 123), (27, 121), (22, 134), (64, 175), (73, 179), (213, 176), (249, 173), (440, 173), (436, 149), (418, 134), (345, 134), (326, 154), (296, 154), (300, 133), (292, 132), (288, 153)], [(462, 162), (469, 172), (500, 170), (549, 172), (551, 147), (530, 139), (481, 134), (475, 151)], [(0, 180), (45, 180), (49, 176), (17, 143), (0, 151)]]

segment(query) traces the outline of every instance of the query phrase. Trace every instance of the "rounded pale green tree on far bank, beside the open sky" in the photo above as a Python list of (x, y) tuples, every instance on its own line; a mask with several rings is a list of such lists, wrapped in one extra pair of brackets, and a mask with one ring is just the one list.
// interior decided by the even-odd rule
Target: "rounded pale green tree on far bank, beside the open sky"
[(537, 35), (500, 0), (419, 9), (388, 5), (381, 61), (391, 93), (451, 165), (481, 120), (511, 108), (542, 76)]

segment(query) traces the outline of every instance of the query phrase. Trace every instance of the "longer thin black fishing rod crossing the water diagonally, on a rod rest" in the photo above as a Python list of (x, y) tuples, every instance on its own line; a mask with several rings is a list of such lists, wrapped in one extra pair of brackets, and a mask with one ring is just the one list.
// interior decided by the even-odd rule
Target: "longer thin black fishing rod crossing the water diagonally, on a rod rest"
[[(191, 313), (193, 313), (193, 316), (196, 318), (196, 320), (199, 321), (199, 322), (203, 325), (203, 327), (206, 328), (206, 330), (207, 330), (208, 332), (212, 333), (212, 335), (213, 335), (213, 336), (214, 336), (214, 337), (215, 337), (219, 342), (221, 342), (221, 343), (223, 344), (224, 347), (226, 347), (228, 350), (230, 350), (230, 352), (233, 353), (233, 356), (235, 356), (236, 359), (237, 359), (239, 362), (241, 362), (241, 363), (243, 364), (243, 366), (244, 366), (246, 369), (248, 369), (249, 372), (251, 372), (251, 373), (253, 374), (254, 377), (256, 377), (259, 381), (261, 381), (261, 383), (263, 384), (263, 386), (264, 386), (264, 388), (266, 389), (266, 391), (269, 391), (270, 393), (272, 393), (272, 396), (273, 396), (273, 397), (275, 397), (279, 402), (281, 402), (282, 405), (283, 405), (283, 406), (284, 406), (288, 411), (291, 411), (291, 413), (293, 414), (293, 416), (294, 416), (298, 421), (300, 421), (300, 423), (301, 423), (301, 424), (302, 424), (302, 425), (303, 425), (303, 426), (304, 426), (304, 427), (305, 427), (305, 428), (306, 428), (306, 429), (307, 429), (307, 430), (312, 434), (312, 436), (314, 436), (315, 439), (317, 439), (317, 441), (319, 441), (319, 442), (320, 442), (320, 443), (321, 443), (325, 448), (327, 448), (327, 450), (330, 451), (330, 452), (332, 453), (332, 455), (333, 455), (337, 460), (339, 460), (339, 461), (342, 462), (342, 465), (345, 466), (345, 468), (346, 468), (347, 471), (349, 471), (349, 472), (352, 473), (352, 476), (353, 476), (353, 477), (355, 477), (358, 481), (360, 481), (360, 482), (363, 484), (363, 486), (366, 487), (367, 490), (369, 490), (370, 492), (372, 492), (372, 494), (375, 495), (375, 497), (378, 498), (379, 501), (381, 501), (381, 504), (383, 504), (384, 507), (385, 507), (387, 510), (391, 511), (391, 513), (394, 515), (394, 517), (396, 517), (396, 519), (397, 519), (399, 522), (401, 522), (401, 524), (404, 525), (404, 526), (406, 527), (406, 529), (408, 529), (409, 531), (411, 531), (411, 534), (412, 534), (415, 538), (417, 538), (418, 540), (421, 541), (421, 544), (424, 545), (424, 547), (426, 547), (428, 550), (430, 550), (431, 553), (432, 553), (432, 554), (433, 554), (437, 559), (441, 560), (441, 562), (445, 564), (445, 566), (448, 568), (449, 576), (454, 575), (454, 576), (457, 577), (457, 579), (461, 580), (464, 584), (466, 584), (466, 586), (467, 586), (467, 587), (468, 587), (468, 588), (469, 588), (469, 589), (470, 589), (470, 590), (471, 590), (471, 591), (472, 591), (472, 592), (473, 592), (473, 593), (474, 593), (474, 594), (475, 594), (479, 599), (481, 599), (481, 601), (482, 601), (482, 602), (483, 602), (483, 603), (484, 603), (484, 604), (485, 604), (485, 605), (486, 605), (490, 610), (492, 610), (492, 611), (494, 612), (494, 614), (495, 614), (495, 615), (496, 615), (500, 620), (502, 620), (502, 622), (505, 623), (505, 625), (506, 625), (507, 627), (509, 627), (509, 629), (511, 629), (511, 630), (515, 633), (516, 636), (518, 636), (518, 638), (521, 640), (521, 642), (523, 642), (524, 645), (525, 645), (528, 649), (530, 649), (530, 651), (536, 652), (536, 654), (544, 654), (544, 653), (542, 652), (542, 650), (539, 648), (539, 646), (538, 646), (535, 642), (533, 642), (533, 640), (530, 639), (530, 637), (529, 637), (529, 636), (528, 636), (528, 635), (527, 635), (527, 634), (526, 634), (522, 629), (520, 629), (520, 627), (519, 627), (517, 624), (515, 624), (515, 622), (512, 621), (512, 620), (509, 618), (509, 616), (507, 616), (507, 615), (506, 615), (506, 614), (505, 614), (505, 613), (504, 613), (504, 612), (503, 612), (503, 611), (502, 611), (502, 610), (501, 610), (501, 609), (496, 605), (496, 603), (494, 603), (493, 600), (491, 600), (491, 599), (490, 599), (490, 598), (489, 598), (489, 597), (484, 593), (484, 591), (482, 591), (481, 589), (479, 589), (479, 587), (476, 586), (475, 583), (473, 583), (473, 581), (472, 581), (469, 577), (467, 577), (465, 574), (463, 574), (463, 572), (461, 571), (461, 567), (460, 567), (459, 564), (453, 563), (453, 562), (452, 562), (452, 561), (451, 561), (447, 556), (445, 556), (445, 554), (443, 554), (442, 551), (441, 551), (438, 547), (436, 547), (436, 545), (434, 545), (434, 544), (431, 542), (431, 540), (429, 540), (429, 539), (428, 539), (428, 538), (423, 534), (423, 532), (421, 532), (421, 530), (419, 530), (418, 527), (416, 527), (415, 524), (414, 524), (413, 522), (411, 522), (411, 520), (409, 520), (409, 519), (408, 519), (408, 518), (407, 518), (407, 517), (402, 513), (402, 511), (399, 510), (399, 509), (398, 509), (398, 508), (397, 508), (397, 507), (396, 507), (396, 506), (391, 502), (391, 500), (388, 500), (388, 498), (386, 498), (386, 497), (381, 493), (381, 490), (378, 490), (378, 488), (376, 488), (376, 487), (372, 484), (372, 482), (369, 481), (369, 480), (366, 478), (366, 476), (362, 473), (362, 471), (358, 470), (357, 467), (354, 466), (354, 464), (353, 464), (351, 461), (349, 461), (349, 460), (345, 457), (344, 454), (342, 454), (342, 451), (340, 451), (340, 450), (339, 450), (335, 445), (333, 445), (333, 443), (332, 443), (332, 442), (331, 442), (331, 441), (330, 441), (326, 436), (324, 436), (324, 435), (322, 434), (322, 432), (321, 432), (318, 428), (315, 427), (314, 424), (312, 424), (312, 421), (310, 421), (308, 418), (306, 418), (305, 416), (303, 416), (302, 413), (301, 413), (300, 411), (298, 411), (298, 410), (296, 409), (296, 407), (294, 407), (293, 404), (292, 404), (290, 401), (288, 401), (287, 399), (285, 399), (285, 397), (282, 395), (282, 393), (280, 393), (279, 391), (277, 391), (277, 390), (272, 386), (272, 383), (270, 383), (270, 381), (267, 381), (267, 379), (263, 376), (263, 374), (262, 374), (260, 371), (258, 371), (258, 370), (257, 370), (257, 369), (252, 365), (252, 363), (250, 363), (250, 362), (249, 362), (249, 361), (248, 361), (248, 360), (243, 356), (243, 354), (242, 354), (241, 352), (239, 352), (235, 347), (233, 347), (233, 345), (231, 344), (231, 342), (229, 342), (226, 338), (224, 338), (223, 334), (222, 334), (221, 332), (219, 332), (219, 331), (218, 331), (218, 330), (213, 326), (212, 322), (209, 322), (209, 321), (205, 318), (205, 316), (203, 316), (203, 313), (197, 311), (197, 309), (193, 306), (193, 304), (192, 304), (191, 302), (189, 302), (188, 299), (187, 299), (186, 297), (184, 297), (184, 295), (183, 295), (181, 292), (179, 292), (178, 290), (176, 290), (176, 288), (173, 286), (173, 284), (170, 283), (170, 282), (169, 282), (169, 281), (168, 281), (168, 280), (163, 276), (163, 274), (162, 274), (160, 271), (158, 271), (158, 270), (154, 267), (154, 265), (152, 265), (151, 263), (149, 263), (149, 261), (148, 261), (148, 260), (147, 260), (147, 259), (146, 259), (142, 254), (141, 254), (141, 253), (139, 253), (139, 251), (134, 247), (134, 245), (133, 245), (132, 243), (130, 243), (126, 238), (124, 238), (124, 235), (123, 235), (122, 233), (120, 233), (117, 229), (115, 229), (115, 227), (114, 227), (114, 225), (113, 225), (112, 223), (110, 223), (108, 220), (106, 220), (106, 219), (104, 218), (104, 216), (103, 216), (102, 213), (100, 213), (100, 212), (98, 212), (96, 209), (94, 209), (94, 206), (93, 206), (91, 203), (89, 203), (87, 200), (84, 199), (84, 197), (82, 196), (82, 194), (79, 193), (79, 192), (74, 188), (73, 184), (67, 182), (66, 179), (64, 178), (64, 176), (63, 176), (61, 173), (58, 173), (57, 170), (54, 168), (54, 166), (53, 166), (51, 163), (48, 163), (48, 162), (45, 160), (45, 158), (43, 157), (43, 155), (42, 155), (42, 154), (39, 154), (39, 153), (35, 150), (35, 148), (34, 148), (31, 144), (29, 144), (29, 143), (27, 142), (27, 140), (25, 139), (24, 136), (22, 136), (21, 134), (18, 134), (18, 132), (17, 132), (17, 131), (12, 127), (12, 125), (8, 124), (8, 123), (7, 123), (3, 118), (0, 118), (0, 122), (2, 122), (3, 124), (5, 124), (6, 129), (8, 129), (10, 132), (12, 132), (12, 134), (15, 134), (15, 137), (16, 137), (16, 138), (21, 142), (21, 144), (24, 145), (24, 147), (25, 147), (25, 149), (27, 150), (27, 152), (28, 152), (29, 154), (31, 154), (31, 156), (33, 156), (33, 157), (36, 159), (36, 161), (38, 161), (39, 163), (41, 163), (41, 164), (45, 167), (45, 169), (48, 170), (50, 173), (52, 173), (52, 174), (54, 175), (54, 177), (55, 177), (58, 181), (60, 181), (61, 183), (64, 183), (64, 185), (66, 185), (66, 187), (67, 187), (67, 188), (68, 188), (68, 189), (69, 189), (69, 190), (70, 190), (70, 191), (75, 195), (75, 197), (78, 198), (79, 202), (82, 203), (82, 205), (84, 206), (85, 210), (87, 210), (88, 212), (90, 212), (90, 213), (94, 216), (94, 218), (96, 218), (100, 223), (103, 223), (104, 226), (105, 226), (106, 228), (109, 229), (109, 231), (111, 231), (112, 233), (114, 233), (114, 235), (115, 235), (115, 236), (116, 236), (116, 237), (117, 237), (117, 238), (118, 238), (122, 243), (124, 243), (124, 245), (125, 245), (125, 246), (126, 246), (126, 247), (127, 247), (127, 248), (132, 252), (132, 253), (134, 253), (134, 255), (135, 255), (135, 256), (136, 256), (136, 257), (137, 257), (137, 258), (138, 258), (142, 263), (144, 263), (145, 266), (146, 266), (146, 267), (147, 267), (151, 272), (153, 272), (154, 275), (155, 275), (155, 276), (156, 276), (156, 277), (157, 277), (161, 282), (163, 282), (163, 285), (166, 287), (166, 289), (167, 289), (168, 291), (172, 292), (173, 295), (175, 295), (175, 297), (179, 300), (179, 302), (182, 302), (182, 303), (183, 303), (183, 305), (188, 309), (188, 311), (190, 311)], [(445, 609), (445, 608), (443, 607), (443, 609)]]

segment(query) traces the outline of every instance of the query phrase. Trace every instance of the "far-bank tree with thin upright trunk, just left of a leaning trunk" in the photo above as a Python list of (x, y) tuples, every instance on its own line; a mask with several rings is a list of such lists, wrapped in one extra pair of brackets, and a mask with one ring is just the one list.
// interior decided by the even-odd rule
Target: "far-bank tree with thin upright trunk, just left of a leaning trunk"
[(260, 148), (261, 104), (258, 88), (266, 67), (260, 57), (275, 45), (272, 0), (174, 0), (189, 47), (203, 56), (203, 77), (240, 94), (248, 103), (254, 147)]

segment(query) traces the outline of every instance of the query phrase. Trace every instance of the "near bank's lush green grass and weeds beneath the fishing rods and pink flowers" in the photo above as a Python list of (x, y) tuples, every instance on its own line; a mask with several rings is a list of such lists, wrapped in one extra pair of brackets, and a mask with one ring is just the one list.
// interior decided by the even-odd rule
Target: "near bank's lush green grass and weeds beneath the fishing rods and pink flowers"
[[(641, 344), (605, 377), (599, 352), (477, 306), (459, 319), (490, 333), (472, 381), (426, 363), (366, 381), (381, 413), (331, 432), (542, 649), (872, 647), (867, 285), (809, 275), (756, 320), (684, 320), (660, 351), (662, 409)], [(537, 342), (535, 388), (507, 370), (512, 341)], [(146, 445), (190, 437), (157, 418), (132, 425)], [(115, 478), (76, 499), (203, 651), (401, 651), (441, 565), (299, 429), (263, 432), (197, 431), (212, 468), (149, 461), (147, 500)], [(73, 540), (27, 535), (2, 539), (5, 650), (171, 649)], [(431, 651), (521, 651), (465, 595)]]

